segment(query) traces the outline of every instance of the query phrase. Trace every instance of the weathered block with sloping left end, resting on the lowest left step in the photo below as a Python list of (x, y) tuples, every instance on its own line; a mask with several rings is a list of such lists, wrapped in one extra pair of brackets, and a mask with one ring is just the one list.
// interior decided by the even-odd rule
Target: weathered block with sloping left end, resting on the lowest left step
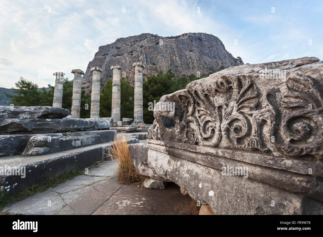
[(87, 131), (74, 133), (37, 134), (30, 138), (21, 155), (44, 155), (82, 146), (113, 141), (117, 131)]

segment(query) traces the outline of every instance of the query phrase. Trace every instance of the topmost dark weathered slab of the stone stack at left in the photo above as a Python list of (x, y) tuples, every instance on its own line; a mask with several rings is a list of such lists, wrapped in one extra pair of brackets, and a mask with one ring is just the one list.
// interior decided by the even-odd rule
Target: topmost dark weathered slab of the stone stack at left
[(70, 114), (68, 109), (51, 106), (0, 106), (0, 118), (60, 119)]

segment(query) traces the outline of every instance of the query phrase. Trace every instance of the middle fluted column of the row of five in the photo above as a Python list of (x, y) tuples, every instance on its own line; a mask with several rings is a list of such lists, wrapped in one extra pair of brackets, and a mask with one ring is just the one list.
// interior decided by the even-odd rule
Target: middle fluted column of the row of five
[(90, 118), (100, 117), (100, 84), (101, 84), (101, 72), (99, 67), (92, 67), (92, 91), (91, 91), (91, 116)]

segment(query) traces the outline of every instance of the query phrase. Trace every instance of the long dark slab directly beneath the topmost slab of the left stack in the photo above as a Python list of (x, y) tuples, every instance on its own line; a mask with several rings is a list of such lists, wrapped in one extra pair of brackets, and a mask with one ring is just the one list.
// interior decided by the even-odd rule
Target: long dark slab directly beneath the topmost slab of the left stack
[(0, 134), (59, 133), (109, 129), (108, 120), (0, 119)]

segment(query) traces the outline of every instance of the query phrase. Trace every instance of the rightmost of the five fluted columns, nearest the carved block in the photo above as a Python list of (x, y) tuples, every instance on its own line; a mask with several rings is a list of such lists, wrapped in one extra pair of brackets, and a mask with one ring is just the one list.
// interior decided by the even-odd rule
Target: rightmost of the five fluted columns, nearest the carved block
[(133, 122), (143, 123), (142, 114), (142, 70), (145, 66), (142, 63), (132, 64), (135, 67), (135, 96), (134, 96), (134, 111)]

